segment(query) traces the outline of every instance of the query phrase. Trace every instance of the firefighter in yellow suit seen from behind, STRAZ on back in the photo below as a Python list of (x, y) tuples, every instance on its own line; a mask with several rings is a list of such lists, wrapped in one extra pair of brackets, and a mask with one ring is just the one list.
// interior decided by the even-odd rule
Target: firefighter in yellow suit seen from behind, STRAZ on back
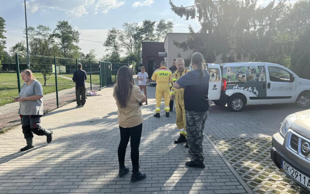
[(169, 102), (170, 102), (170, 79), (172, 76), (172, 72), (166, 68), (166, 62), (162, 61), (160, 63), (160, 68), (155, 70), (152, 75), (152, 80), (156, 81), (156, 113), (154, 114), (154, 117), (160, 118), (160, 105), (162, 103), (162, 96), (164, 97), (165, 101), (165, 111), (166, 111), (166, 117), (169, 117)]

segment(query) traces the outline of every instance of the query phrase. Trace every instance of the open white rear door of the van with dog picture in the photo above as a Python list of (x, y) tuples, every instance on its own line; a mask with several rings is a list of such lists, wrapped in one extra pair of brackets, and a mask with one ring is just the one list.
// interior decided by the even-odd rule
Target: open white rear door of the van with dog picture
[(209, 80), (209, 100), (219, 100), (222, 87), (222, 71), (218, 64), (208, 63)]

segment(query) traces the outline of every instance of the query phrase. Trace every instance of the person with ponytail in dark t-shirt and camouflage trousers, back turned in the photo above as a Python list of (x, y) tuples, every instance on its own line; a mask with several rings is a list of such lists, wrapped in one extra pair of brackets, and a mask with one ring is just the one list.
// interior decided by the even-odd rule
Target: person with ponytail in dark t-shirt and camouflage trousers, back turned
[(178, 79), (173, 87), (184, 89), (184, 109), (189, 150), (193, 160), (188, 167), (205, 168), (203, 156), (203, 129), (208, 118), (209, 72), (203, 68), (203, 56), (199, 52), (192, 55), (193, 71)]

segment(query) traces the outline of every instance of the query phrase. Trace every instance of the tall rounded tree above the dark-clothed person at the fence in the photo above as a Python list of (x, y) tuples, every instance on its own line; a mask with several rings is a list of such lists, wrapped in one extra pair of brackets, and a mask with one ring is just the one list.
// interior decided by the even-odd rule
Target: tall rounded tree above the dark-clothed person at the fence
[(58, 21), (51, 37), (55, 37), (64, 57), (78, 57), (80, 33), (68, 21)]

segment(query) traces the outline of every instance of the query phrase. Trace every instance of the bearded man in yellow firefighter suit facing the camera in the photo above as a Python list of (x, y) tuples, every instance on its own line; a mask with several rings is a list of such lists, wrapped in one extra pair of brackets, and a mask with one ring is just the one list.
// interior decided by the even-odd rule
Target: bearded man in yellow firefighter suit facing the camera
[[(182, 58), (178, 58), (175, 61), (175, 66), (177, 70), (172, 75), (170, 80), (170, 83), (172, 85), (173, 83), (175, 83), (176, 80), (180, 79), (180, 77), (189, 72), (189, 70), (184, 68), (184, 59)], [(188, 147), (183, 94), (184, 94), (184, 88), (175, 89), (172, 87), (170, 91), (170, 100), (174, 100), (175, 102), (176, 126), (180, 130), (180, 136), (174, 142), (175, 143), (186, 142), (185, 147)]]

